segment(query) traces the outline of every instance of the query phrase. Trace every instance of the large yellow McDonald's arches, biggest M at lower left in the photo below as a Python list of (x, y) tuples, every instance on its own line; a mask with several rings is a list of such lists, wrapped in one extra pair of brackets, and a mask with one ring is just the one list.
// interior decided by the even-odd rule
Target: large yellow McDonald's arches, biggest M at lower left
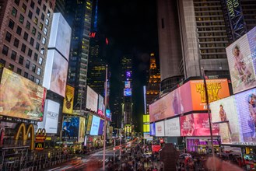
[(19, 125), (19, 129), (18, 129), (16, 135), (14, 136), (15, 145), (18, 144), (20, 132), (22, 132), (21, 138), (23, 139), (23, 145), (26, 145), (26, 140), (30, 138), (30, 140), (31, 140), (30, 149), (33, 150), (34, 149), (34, 136), (35, 136), (33, 124), (29, 124), (27, 128), (24, 123)]

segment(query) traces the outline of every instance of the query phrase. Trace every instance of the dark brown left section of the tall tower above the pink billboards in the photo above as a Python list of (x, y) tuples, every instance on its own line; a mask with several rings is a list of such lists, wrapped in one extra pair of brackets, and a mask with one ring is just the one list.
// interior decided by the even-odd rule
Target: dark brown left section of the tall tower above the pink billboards
[(180, 72), (182, 60), (177, 1), (157, 1), (158, 38), (160, 51), (161, 91), (170, 89), (183, 80)]

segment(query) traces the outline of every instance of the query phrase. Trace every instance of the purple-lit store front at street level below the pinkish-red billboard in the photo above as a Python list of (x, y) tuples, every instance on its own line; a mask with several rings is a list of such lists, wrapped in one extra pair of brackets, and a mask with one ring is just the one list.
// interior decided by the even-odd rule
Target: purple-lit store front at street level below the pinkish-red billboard
[[(215, 152), (219, 152), (219, 141), (213, 138), (213, 147)], [(198, 152), (199, 154), (212, 153), (212, 143), (210, 137), (186, 138), (187, 152)]]

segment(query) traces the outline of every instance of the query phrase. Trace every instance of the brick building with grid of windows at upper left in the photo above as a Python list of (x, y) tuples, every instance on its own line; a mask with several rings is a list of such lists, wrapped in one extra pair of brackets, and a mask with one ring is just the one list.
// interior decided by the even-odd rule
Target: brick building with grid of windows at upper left
[(0, 0), (0, 63), (42, 84), (54, 1)]

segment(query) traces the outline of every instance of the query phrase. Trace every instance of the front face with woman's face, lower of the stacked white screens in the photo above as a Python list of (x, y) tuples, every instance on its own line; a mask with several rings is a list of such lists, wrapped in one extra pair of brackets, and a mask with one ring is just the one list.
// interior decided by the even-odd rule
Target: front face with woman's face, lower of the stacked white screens
[(54, 61), (52, 65), (52, 72), (51, 72), (51, 85), (50, 85), (51, 91), (56, 92), (61, 96), (65, 96), (67, 74), (68, 74), (68, 61), (66, 61), (65, 58), (61, 56), (61, 54), (58, 54), (58, 52), (55, 51)]

